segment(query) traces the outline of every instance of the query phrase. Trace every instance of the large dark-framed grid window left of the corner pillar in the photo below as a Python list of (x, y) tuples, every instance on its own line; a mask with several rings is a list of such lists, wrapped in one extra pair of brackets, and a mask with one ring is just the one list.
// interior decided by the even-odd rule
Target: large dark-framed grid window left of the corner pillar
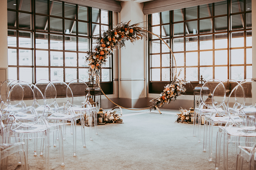
[[(111, 27), (111, 11), (50, 0), (9, 0), (7, 8), (10, 79), (88, 81), (85, 57)], [(111, 82), (111, 63), (102, 69), (102, 82)]]

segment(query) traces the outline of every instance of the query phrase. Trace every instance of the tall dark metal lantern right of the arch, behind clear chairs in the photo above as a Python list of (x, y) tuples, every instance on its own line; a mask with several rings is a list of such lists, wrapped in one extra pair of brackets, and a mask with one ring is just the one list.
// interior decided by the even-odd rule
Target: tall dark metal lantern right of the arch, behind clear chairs
[[(195, 86), (193, 89), (194, 91), (194, 108), (198, 108), (199, 104), (201, 103), (201, 98), (200, 98), (200, 92), (201, 88), (203, 86), (203, 83), (206, 82), (203, 76), (201, 75), (201, 78), (199, 80), (199, 84)], [(202, 90), (202, 95), (208, 95), (210, 90), (208, 88), (205, 88)]]

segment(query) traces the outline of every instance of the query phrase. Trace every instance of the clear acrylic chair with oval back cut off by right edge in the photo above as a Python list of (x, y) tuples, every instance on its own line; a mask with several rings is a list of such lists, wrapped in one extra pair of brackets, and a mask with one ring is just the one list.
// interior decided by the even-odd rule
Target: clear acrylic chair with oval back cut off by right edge
[(230, 119), (225, 127), (219, 126), (215, 169), (219, 169), (221, 135), (224, 135), (223, 164), (225, 170), (228, 169), (228, 144), (230, 142), (244, 143), (246, 146), (256, 142), (255, 120), (250, 118), (255, 115), (255, 89), (256, 81), (247, 79), (230, 92), (226, 106)]

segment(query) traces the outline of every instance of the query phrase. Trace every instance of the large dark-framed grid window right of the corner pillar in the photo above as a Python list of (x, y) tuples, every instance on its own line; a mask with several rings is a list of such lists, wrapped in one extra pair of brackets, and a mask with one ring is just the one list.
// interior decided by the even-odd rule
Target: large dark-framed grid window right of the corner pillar
[[(251, 0), (160, 12), (149, 15), (149, 20), (151, 32), (171, 46), (177, 72), (181, 70), (179, 78), (252, 78)], [(150, 85), (169, 82), (170, 66), (175, 66), (172, 55), (158, 37), (151, 36), (149, 41)]]

